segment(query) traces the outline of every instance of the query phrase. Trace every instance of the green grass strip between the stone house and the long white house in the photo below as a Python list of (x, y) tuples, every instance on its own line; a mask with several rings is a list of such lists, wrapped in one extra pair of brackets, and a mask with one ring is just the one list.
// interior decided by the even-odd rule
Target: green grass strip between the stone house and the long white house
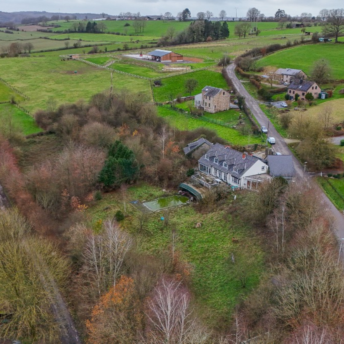
[(219, 137), (222, 137), (232, 144), (246, 146), (247, 144), (261, 143), (260, 137), (245, 136), (236, 129), (181, 114), (171, 109), (169, 105), (159, 106), (158, 115), (164, 117), (172, 126), (179, 130), (193, 130), (203, 127), (215, 130)]

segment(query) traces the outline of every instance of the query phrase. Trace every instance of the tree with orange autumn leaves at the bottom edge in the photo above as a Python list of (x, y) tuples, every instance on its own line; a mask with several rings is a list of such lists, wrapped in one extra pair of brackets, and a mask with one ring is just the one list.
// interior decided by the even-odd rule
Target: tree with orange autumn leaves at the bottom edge
[(135, 343), (140, 318), (134, 280), (123, 275), (115, 287), (101, 296), (91, 320), (86, 321), (87, 343)]

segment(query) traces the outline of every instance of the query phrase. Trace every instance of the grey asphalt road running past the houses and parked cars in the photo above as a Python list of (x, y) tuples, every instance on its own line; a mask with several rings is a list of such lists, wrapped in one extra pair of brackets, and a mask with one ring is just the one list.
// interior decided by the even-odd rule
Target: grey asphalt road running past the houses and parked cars
[[(300, 164), (299, 160), (297, 160), (291, 150), (289, 149), (287, 143), (284, 141), (282, 136), (277, 132), (275, 127), (271, 124), (269, 119), (265, 116), (264, 112), (260, 109), (259, 104), (257, 101), (247, 92), (245, 87), (241, 85), (240, 80), (237, 78), (237, 76), (234, 73), (235, 64), (232, 63), (226, 67), (226, 71), (230, 79), (232, 80), (232, 83), (234, 85), (234, 88), (237, 93), (245, 97), (245, 103), (249, 109), (251, 109), (252, 114), (257, 119), (259, 126), (265, 126), (268, 128), (268, 137), (274, 137), (276, 139), (276, 144), (274, 144), (274, 150), (276, 152), (280, 152), (281, 154), (289, 154), (293, 157), (294, 167), (296, 171), (296, 179), (302, 180), (304, 178), (309, 179), (309, 175), (306, 172), (303, 173), (304, 167)], [(315, 183), (314, 183), (315, 184)], [(316, 187), (316, 186), (315, 186)], [(344, 238), (344, 216), (343, 213), (338, 211), (338, 209), (332, 204), (332, 202), (329, 200), (329, 198), (323, 193), (323, 191), (319, 188), (322, 195), (322, 200), (324, 202), (325, 208), (329, 209), (333, 216), (334, 221), (334, 228), (335, 233), (338, 237), (338, 239)], [(344, 240), (343, 240), (344, 244)]]

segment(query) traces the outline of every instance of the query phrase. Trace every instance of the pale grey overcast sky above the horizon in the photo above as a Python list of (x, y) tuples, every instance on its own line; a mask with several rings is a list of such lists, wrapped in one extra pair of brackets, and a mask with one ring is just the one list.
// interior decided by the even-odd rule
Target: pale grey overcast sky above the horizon
[[(15, 11), (47, 11), (65, 13), (101, 13), (117, 15), (120, 12), (140, 12), (144, 14), (163, 14), (171, 12), (174, 16), (185, 7), (189, 8), (192, 17), (197, 12), (206, 10), (218, 15), (221, 10), (227, 12), (228, 17), (245, 17), (248, 8), (256, 7), (267, 17), (274, 15), (280, 8), (290, 15), (300, 15), (302, 12), (312, 13), (316, 16), (323, 8), (341, 8), (343, 2), (334, 0), (331, 6), (324, 1), (281, 1), (281, 0), (250, 0), (250, 1), (225, 1), (225, 0), (14, 0), (1, 1), (0, 10), (3, 12)], [(311, 5), (310, 5), (311, 3)]]

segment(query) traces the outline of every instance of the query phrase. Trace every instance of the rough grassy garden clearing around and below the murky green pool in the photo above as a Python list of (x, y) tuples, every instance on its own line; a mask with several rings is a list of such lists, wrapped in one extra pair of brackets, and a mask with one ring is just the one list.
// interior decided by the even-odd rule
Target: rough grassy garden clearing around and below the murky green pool
[[(158, 187), (141, 184), (129, 187), (127, 200), (153, 200), (163, 193)], [(87, 210), (89, 223), (114, 216), (118, 209), (124, 211), (122, 200), (121, 192), (104, 194), (101, 201)], [(148, 215), (140, 230), (138, 218), (142, 214), (127, 204), (127, 216), (121, 226), (136, 238), (139, 250), (157, 256), (168, 255), (174, 228), (176, 249), (191, 269), (191, 288), (200, 313), (212, 326), (228, 321), (238, 299), (257, 286), (264, 270), (264, 254), (258, 240), (249, 228), (234, 225), (224, 210), (201, 214), (193, 206), (174, 208), (168, 226), (160, 220), (162, 214)], [(197, 222), (202, 223), (201, 228), (195, 227)], [(232, 237), (238, 238), (239, 243), (233, 244)], [(230, 259), (232, 252), (235, 265)], [(242, 273), (248, 278), (246, 288), (239, 281)]]

